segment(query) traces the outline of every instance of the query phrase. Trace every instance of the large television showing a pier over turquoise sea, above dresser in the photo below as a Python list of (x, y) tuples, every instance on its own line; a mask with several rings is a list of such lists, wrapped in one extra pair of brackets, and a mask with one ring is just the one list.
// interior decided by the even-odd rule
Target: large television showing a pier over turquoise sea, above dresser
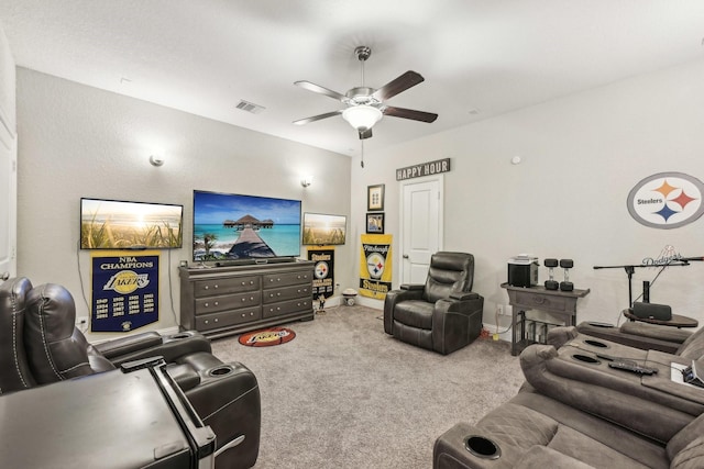
[(300, 255), (300, 200), (194, 191), (194, 261)]

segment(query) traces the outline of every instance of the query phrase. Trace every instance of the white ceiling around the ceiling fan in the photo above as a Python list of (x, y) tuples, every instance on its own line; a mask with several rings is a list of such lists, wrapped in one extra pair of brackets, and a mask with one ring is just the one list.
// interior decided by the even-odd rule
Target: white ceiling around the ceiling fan
[(19, 66), (344, 155), (341, 116), (292, 124), (343, 104), (294, 81), (361, 86), (358, 45), (366, 86), (418, 71), (388, 104), (440, 115), (385, 116), (367, 150), (704, 54), (694, 0), (0, 0), (0, 22)]

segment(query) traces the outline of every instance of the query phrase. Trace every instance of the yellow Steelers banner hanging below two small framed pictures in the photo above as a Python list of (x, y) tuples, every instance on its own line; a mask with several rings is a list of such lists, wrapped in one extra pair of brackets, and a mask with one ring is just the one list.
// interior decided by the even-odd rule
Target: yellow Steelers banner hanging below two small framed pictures
[(362, 235), (360, 294), (384, 299), (392, 289), (392, 235)]

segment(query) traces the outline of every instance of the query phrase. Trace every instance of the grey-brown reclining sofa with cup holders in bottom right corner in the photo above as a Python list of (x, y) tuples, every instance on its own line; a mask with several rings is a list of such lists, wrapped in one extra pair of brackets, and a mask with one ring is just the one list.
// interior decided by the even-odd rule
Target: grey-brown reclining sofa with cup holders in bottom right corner
[[(634, 331), (630, 346), (612, 333), (558, 327), (549, 345), (527, 347), (518, 394), (441, 435), (433, 468), (704, 468), (704, 388), (681, 382), (704, 354), (704, 330), (676, 338), (673, 353), (650, 349), (647, 335), (638, 343)], [(624, 359), (656, 371), (609, 366)]]

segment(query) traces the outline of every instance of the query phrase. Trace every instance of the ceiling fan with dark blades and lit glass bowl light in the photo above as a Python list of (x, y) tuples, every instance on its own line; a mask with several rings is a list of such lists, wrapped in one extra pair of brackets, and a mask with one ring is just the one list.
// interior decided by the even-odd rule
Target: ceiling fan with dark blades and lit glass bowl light
[(378, 89), (369, 88), (364, 86), (364, 62), (372, 55), (372, 49), (367, 46), (359, 46), (354, 49), (354, 55), (356, 55), (356, 58), (362, 63), (361, 87), (352, 88), (346, 93), (342, 94), (321, 87), (320, 85), (311, 83), (310, 81), (301, 80), (294, 83), (307, 89), (308, 91), (337, 99), (346, 104), (346, 108), (338, 111), (326, 112), (324, 114), (314, 115), (311, 118), (300, 119), (298, 121), (294, 121), (294, 124), (302, 125), (309, 122), (320, 121), (322, 119), (342, 114), (342, 119), (348, 121), (350, 125), (358, 131), (360, 139), (364, 139), (372, 136), (372, 127), (384, 115), (428, 123), (435, 122), (435, 120), (438, 119), (438, 114), (433, 114), (431, 112), (396, 108), (385, 103), (387, 99), (422, 82), (425, 78), (422, 78), (420, 74), (408, 70)]

